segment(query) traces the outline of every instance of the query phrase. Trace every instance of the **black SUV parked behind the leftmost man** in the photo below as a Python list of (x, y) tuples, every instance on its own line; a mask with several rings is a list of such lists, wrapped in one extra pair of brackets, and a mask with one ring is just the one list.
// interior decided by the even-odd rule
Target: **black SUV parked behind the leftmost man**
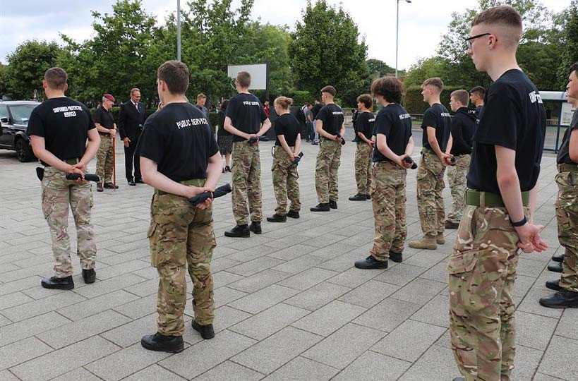
[(30, 113), (39, 104), (32, 101), (0, 102), (0, 149), (16, 151), (20, 162), (35, 159), (26, 128)]

